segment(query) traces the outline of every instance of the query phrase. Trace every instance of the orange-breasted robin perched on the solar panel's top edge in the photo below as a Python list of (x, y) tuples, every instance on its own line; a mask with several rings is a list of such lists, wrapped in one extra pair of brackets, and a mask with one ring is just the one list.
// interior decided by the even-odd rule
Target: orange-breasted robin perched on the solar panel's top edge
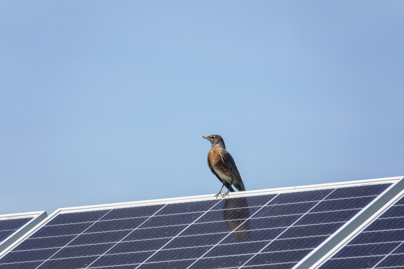
[(244, 183), (241, 180), (240, 173), (238, 172), (236, 163), (234, 162), (233, 157), (231, 157), (230, 153), (226, 150), (225, 142), (223, 138), (218, 135), (211, 136), (202, 136), (210, 141), (212, 144), (212, 148), (210, 148), (208, 152), (208, 167), (210, 171), (223, 183), (223, 186), (226, 186), (228, 189), (225, 194), (222, 194), (222, 188), (219, 193), (215, 195), (215, 197), (225, 197), (229, 195), (229, 192), (235, 192), (233, 187), (239, 192), (245, 191)]

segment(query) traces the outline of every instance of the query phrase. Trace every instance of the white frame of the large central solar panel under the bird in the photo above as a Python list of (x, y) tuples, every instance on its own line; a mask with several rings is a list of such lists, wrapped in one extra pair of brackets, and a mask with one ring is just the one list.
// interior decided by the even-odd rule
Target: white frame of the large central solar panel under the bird
[[(402, 179), (403, 177), (387, 177), (387, 178), (380, 178), (380, 179), (366, 179), (366, 180), (357, 180), (357, 181), (344, 181), (344, 182), (337, 182), (337, 183), (328, 183), (328, 184), (315, 184), (315, 185), (306, 185), (306, 186), (295, 186), (295, 187), (286, 187), (286, 188), (274, 188), (274, 189), (264, 189), (264, 190), (252, 190), (252, 191), (245, 191), (245, 192), (232, 192), (229, 194), (229, 197), (243, 197), (243, 196), (258, 196), (258, 195), (265, 195), (265, 194), (280, 194), (286, 192), (302, 192), (302, 191), (309, 191), (309, 190), (323, 190), (323, 189), (330, 189), (330, 188), (342, 188), (342, 187), (353, 187), (353, 186), (365, 186), (365, 185), (375, 185), (375, 184), (386, 184), (392, 183), (387, 190), (385, 190), (382, 194), (380, 194), (375, 200), (373, 200), (368, 206), (362, 209), (356, 217), (345, 223), (339, 230), (337, 230), (330, 238), (334, 238), (339, 234), (341, 229), (346, 227), (349, 223), (353, 220), (358, 219), (363, 211), (365, 211), (371, 204), (379, 201), (383, 195), (394, 188), (396, 184)], [(404, 181), (403, 181), (404, 182)], [(23, 240), (34, 234), (38, 229), (44, 226), (46, 223), (51, 221), (59, 214), (63, 213), (73, 213), (73, 212), (84, 212), (84, 211), (96, 211), (96, 210), (106, 210), (106, 209), (118, 209), (118, 208), (125, 208), (125, 207), (133, 207), (133, 206), (146, 206), (146, 205), (156, 205), (156, 204), (174, 204), (180, 202), (193, 202), (193, 201), (204, 201), (204, 200), (215, 200), (214, 194), (208, 195), (199, 195), (199, 196), (188, 196), (188, 197), (179, 197), (179, 198), (166, 198), (166, 199), (157, 199), (157, 200), (144, 200), (144, 201), (136, 201), (136, 202), (122, 202), (122, 203), (114, 203), (114, 204), (99, 204), (93, 206), (76, 206), (76, 207), (67, 207), (57, 209), (55, 212), (50, 214), (46, 219), (42, 220), (38, 223), (34, 228), (32, 228), (29, 232), (21, 236), (18, 240), (16, 240), (13, 244), (11, 244), (6, 250), (0, 253), (0, 259), (4, 256), (7, 252), (13, 250), (16, 246), (18, 246)], [(220, 198), (219, 198), (220, 199)], [(362, 220), (364, 221), (364, 220)], [(328, 238), (326, 242), (330, 240)], [(341, 238), (340, 240), (342, 240)], [(324, 242), (325, 243), (325, 242)], [(323, 245), (321, 244), (318, 248), (321, 248)], [(313, 253), (318, 250), (316, 248), (314, 251), (311, 252), (308, 256), (312, 256)], [(305, 259), (307, 259), (307, 257)], [(300, 265), (300, 263), (298, 264)], [(297, 268), (297, 265), (293, 268)], [(300, 269), (300, 268), (299, 268)]]

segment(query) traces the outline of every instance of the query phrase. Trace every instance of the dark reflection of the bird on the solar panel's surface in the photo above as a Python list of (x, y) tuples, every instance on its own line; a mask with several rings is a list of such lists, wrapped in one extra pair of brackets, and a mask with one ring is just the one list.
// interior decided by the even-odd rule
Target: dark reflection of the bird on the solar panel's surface
[[(223, 219), (231, 231), (231, 236), (238, 242), (244, 242), (248, 239), (248, 228), (250, 211), (246, 197), (227, 198), (224, 202)], [(244, 222), (245, 221), (245, 222)], [(241, 224), (241, 225), (240, 225)], [(240, 227), (239, 227), (240, 226)]]

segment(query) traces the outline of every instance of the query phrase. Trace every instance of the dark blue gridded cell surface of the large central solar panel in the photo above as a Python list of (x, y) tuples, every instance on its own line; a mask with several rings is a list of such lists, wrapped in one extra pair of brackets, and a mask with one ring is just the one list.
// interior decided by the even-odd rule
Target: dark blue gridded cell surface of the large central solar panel
[(0, 269), (290, 269), (389, 185), (62, 213)]

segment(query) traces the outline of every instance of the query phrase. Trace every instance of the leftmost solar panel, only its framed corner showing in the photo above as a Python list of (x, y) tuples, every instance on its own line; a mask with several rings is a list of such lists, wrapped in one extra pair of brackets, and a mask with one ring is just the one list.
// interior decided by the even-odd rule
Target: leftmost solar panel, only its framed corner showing
[(46, 211), (0, 215), (0, 255), (46, 217)]

